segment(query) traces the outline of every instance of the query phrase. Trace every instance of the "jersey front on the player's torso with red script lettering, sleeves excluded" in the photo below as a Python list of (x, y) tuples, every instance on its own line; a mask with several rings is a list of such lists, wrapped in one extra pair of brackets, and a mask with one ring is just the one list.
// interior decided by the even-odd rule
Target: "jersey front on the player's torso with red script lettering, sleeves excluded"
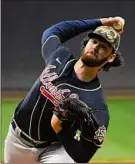
[(36, 140), (56, 139), (51, 128), (53, 108), (67, 96), (78, 97), (93, 109), (105, 108), (98, 79), (84, 83), (77, 79), (70, 58), (60, 64), (55, 57), (41, 73), (23, 102), (15, 112), (15, 118), (23, 131)]

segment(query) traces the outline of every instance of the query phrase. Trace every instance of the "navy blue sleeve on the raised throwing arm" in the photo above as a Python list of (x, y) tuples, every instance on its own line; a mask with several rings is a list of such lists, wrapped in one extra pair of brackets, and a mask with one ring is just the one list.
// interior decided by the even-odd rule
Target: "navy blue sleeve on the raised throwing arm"
[(100, 19), (87, 19), (63, 21), (51, 26), (43, 32), (41, 38), (43, 59), (47, 63), (53, 52), (64, 42), (100, 25)]

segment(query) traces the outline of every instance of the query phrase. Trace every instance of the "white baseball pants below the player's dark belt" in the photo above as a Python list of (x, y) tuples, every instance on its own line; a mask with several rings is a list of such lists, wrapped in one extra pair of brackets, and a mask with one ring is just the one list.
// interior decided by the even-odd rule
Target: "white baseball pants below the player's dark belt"
[(30, 143), (20, 138), (10, 125), (5, 139), (4, 162), (13, 164), (74, 163), (59, 143), (54, 142), (46, 148), (30, 146)]

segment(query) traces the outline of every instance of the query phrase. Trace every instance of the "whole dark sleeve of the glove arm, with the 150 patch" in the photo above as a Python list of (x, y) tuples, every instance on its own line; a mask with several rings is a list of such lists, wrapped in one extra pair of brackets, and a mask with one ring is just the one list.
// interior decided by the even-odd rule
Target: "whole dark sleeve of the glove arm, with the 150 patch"
[(85, 122), (81, 124), (80, 140), (75, 140), (72, 135), (73, 131), (66, 128), (62, 128), (57, 134), (67, 153), (77, 163), (89, 162), (97, 149), (101, 147), (109, 123), (109, 111), (102, 90), (94, 92), (91, 97), (96, 104), (93, 105), (94, 110), (91, 113), (93, 123), (90, 125)]

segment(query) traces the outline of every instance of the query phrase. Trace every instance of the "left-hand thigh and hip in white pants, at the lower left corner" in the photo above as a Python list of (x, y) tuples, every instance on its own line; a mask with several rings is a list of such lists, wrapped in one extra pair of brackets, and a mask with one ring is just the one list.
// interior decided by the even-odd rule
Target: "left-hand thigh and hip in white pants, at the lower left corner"
[(22, 143), (10, 126), (5, 139), (4, 162), (5, 163), (37, 163), (36, 149)]

